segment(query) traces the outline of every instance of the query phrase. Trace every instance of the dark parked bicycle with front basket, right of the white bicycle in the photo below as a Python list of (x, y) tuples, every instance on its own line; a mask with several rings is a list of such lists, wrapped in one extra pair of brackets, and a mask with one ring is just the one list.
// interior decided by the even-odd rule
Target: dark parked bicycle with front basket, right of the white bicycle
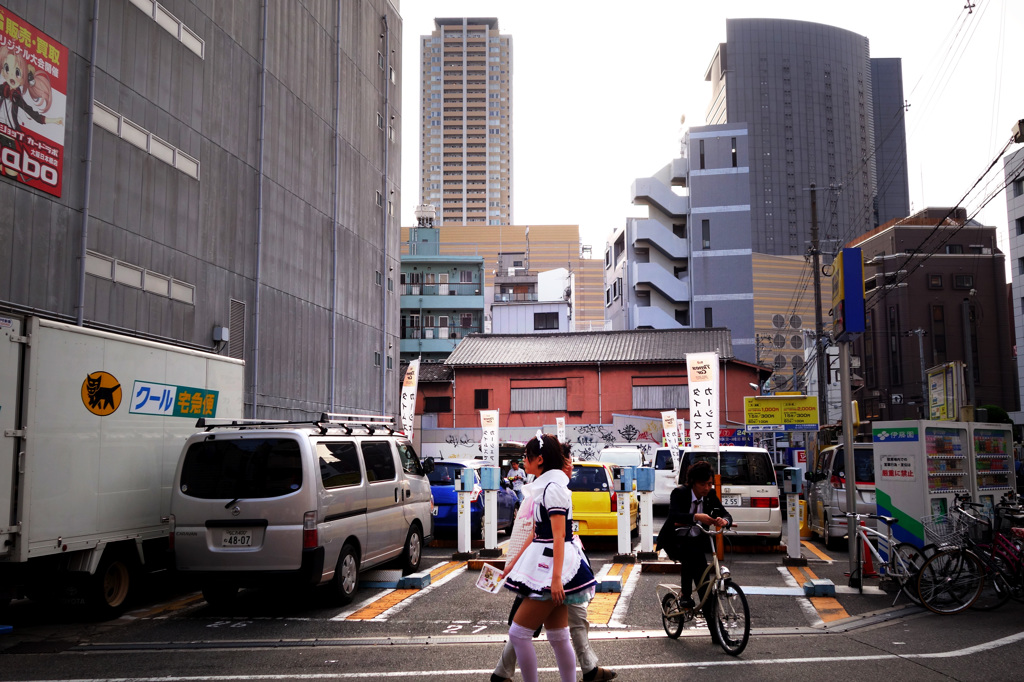
[(918, 595), (926, 608), (943, 615), (968, 608), (985, 587), (985, 564), (967, 545), (969, 514), (959, 500), (954, 501), (950, 515), (922, 519), (925, 537), (939, 551), (918, 571)]

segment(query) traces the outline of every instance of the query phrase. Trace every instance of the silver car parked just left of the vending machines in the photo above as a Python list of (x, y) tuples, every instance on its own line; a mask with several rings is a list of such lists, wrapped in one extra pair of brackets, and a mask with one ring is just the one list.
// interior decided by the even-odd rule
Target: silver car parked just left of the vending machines
[[(874, 449), (869, 442), (853, 444), (853, 475), (857, 512), (874, 514)], [(846, 483), (849, 470), (843, 445), (821, 449), (814, 469), (807, 472), (807, 513), (810, 528), (828, 549), (845, 547)]]

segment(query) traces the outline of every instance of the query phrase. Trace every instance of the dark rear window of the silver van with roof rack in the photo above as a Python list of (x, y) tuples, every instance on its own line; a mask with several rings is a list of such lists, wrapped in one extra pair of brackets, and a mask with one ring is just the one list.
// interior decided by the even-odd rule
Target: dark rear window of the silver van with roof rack
[(276, 498), (302, 487), (302, 456), (292, 438), (229, 438), (189, 445), (181, 493), (203, 500)]

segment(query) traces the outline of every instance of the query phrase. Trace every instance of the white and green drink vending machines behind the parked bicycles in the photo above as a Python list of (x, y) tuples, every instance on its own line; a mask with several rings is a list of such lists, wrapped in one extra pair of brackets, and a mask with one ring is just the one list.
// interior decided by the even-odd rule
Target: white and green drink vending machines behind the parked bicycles
[(991, 509), (1017, 489), (1010, 424), (874, 422), (871, 439), (878, 510), (899, 519), (900, 542), (928, 544), (923, 519), (944, 517), (957, 494)]

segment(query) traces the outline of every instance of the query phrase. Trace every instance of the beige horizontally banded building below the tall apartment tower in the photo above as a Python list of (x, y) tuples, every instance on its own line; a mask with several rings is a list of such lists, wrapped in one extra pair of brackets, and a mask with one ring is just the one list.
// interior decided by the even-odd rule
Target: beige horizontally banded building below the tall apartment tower
[[(421, 250), (415, 240), (409, 241), (411, 229), (402, 227), (402, 258)], [(601, 261), (580, 244), (578, 225), (442, 225), (437, 235), (440, 255), (483, 258), (486, 310), (517, 289), (529, 291), (538, 273), (563, 268), (568, 272), (564, 288), (571, 287), (572, 328), (604, 329)]]

